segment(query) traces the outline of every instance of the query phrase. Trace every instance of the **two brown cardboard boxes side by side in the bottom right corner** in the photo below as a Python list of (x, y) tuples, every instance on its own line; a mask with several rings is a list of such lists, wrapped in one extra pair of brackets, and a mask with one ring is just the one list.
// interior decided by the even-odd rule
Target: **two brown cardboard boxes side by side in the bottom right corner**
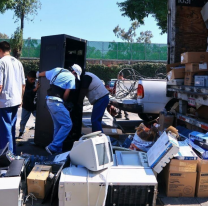
[(208, 160), (172, 159), (164, 175), (168, 197), (208, 197)]

